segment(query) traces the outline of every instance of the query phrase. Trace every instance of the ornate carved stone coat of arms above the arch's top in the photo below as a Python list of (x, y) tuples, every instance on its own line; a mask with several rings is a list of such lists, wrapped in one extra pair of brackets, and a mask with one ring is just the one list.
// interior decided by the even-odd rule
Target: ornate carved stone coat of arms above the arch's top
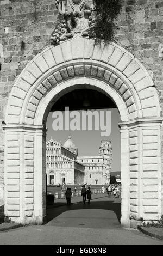
[(52, 32), (52, 45), (58, 45), (76, 33), (89, 35), (89, 28), (95, 23), (92, 0), (56, 0), (55, 4), (63, 20)]

